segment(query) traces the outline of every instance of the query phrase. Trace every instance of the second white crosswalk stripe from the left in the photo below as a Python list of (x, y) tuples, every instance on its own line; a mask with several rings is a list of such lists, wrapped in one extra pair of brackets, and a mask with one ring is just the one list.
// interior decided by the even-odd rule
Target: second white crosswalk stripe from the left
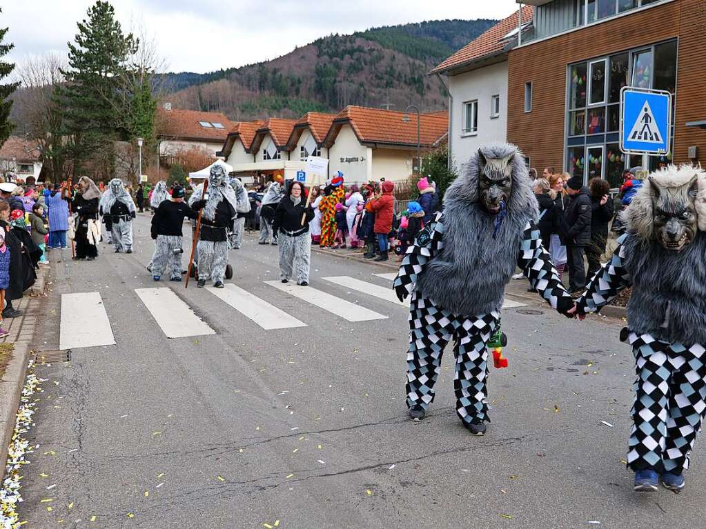
[(216, 334), (171, 288), (136, 288), (135, 293), (167, 338)]

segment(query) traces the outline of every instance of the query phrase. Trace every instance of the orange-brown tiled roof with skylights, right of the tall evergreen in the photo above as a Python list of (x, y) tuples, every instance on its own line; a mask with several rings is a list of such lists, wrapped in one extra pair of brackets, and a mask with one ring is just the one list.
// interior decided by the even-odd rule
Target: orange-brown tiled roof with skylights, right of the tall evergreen
[[(220, 123), (223, 128), (204, 127), (199, 121)], [(225, 141), (228, 131), (235, 123), (221, 112), (201, 112), (197, 110), (157, 110), (157, 127), (160, 136), (189, 140)]]

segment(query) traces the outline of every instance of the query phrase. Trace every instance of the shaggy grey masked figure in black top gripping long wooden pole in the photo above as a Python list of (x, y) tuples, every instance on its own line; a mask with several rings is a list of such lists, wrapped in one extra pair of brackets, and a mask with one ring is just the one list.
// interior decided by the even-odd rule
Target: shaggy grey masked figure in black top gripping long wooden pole
[(223, 276), (228, 265), (229, 238), (234, 228), (238, 202), (233, 188), (227, 183), (223, 166), (211, 167), (208, 190), (203, 197), (203, 183), (191, 195), (189, 203), (193, 209), (203, 209), (201, 232), (198, 236), (198, 282), (203, 288), (206, 281), (223, 288)]

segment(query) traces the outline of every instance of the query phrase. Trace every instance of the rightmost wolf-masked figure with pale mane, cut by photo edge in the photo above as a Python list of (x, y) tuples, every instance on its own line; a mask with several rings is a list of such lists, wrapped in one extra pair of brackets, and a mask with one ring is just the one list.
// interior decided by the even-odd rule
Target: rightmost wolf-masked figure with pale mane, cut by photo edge
[(628, 467), (635, 490), (684, 486), (706, 413), (706, 173), (669, 166), (652, 174), (622, 213), (626, 233), (577, 300), (598, 312), (632, 286), (621, 339), (635, 356)]

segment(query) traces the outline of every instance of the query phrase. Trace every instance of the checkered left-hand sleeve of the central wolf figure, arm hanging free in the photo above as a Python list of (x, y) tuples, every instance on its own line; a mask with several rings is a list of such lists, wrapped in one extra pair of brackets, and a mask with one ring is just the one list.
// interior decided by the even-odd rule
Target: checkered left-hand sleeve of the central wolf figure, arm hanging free
[(443, 248), (443, 212), (436, 214), (436, 219), (429, 223), (409, 245), (400, 271), (393, 281), (393, 289), (400, 301), (405, 300), (414, 290), (417, 277), (424, 272), (424, 267), (431, 258)]

